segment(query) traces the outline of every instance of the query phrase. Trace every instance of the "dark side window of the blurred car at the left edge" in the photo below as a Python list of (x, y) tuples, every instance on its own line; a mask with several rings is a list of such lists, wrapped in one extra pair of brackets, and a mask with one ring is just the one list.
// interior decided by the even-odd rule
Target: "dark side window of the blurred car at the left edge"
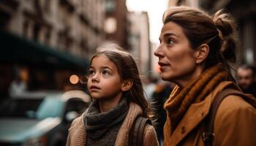
[(35, 118), (42, 99), (9, 99), (0, 105), (1, 117)]

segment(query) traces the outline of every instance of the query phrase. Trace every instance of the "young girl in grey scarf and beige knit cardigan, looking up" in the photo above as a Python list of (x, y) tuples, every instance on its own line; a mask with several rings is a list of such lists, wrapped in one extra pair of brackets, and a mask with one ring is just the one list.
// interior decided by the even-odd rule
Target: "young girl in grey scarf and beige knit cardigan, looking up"
[[(138, 117), (148, 118), (148, 103), (135, 60), (117, 45), (98, 48), (90, 61), (88, 90), (94, 101), (72, 122), (67, 145), (129, 145), (129, 131)], [(146, 124), (143, 145), (158, 145)]]

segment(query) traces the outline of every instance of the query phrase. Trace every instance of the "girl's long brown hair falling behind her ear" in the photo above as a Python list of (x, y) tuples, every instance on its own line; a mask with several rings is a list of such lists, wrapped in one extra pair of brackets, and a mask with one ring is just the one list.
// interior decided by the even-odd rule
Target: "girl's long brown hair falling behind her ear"
[(143, 95), (143, 85), (140, 80), (138, 66), (132, 55), (116, 44), (98, 47), (96, 53), (91, 57), (91, 61), (99, 55), (107, 56), (113, 64), (116, 64), (121, 80), (131, 80), (133, 82), (132, 88), (124, 92), (123, 96), (128, 101), (138, 104), (143, 110), (143, 117), (149, 118), (148, 102)]

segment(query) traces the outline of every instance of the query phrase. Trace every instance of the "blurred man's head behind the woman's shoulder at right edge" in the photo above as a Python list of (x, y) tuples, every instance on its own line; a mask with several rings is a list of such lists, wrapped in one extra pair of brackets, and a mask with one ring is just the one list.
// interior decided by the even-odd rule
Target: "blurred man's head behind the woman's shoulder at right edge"
[(244, 93), (251, 93), (256, 97), (255, 69), (253, 66), (241, 65), (236, 71), (237, 82)]

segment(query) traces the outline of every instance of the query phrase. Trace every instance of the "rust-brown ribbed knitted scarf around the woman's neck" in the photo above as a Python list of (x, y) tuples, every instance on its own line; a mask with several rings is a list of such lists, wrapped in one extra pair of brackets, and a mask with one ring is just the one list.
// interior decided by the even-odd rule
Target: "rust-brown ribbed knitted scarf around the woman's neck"
[(170, 135), (175, 130), (190, 105), (203, 101), (219, 82), (227, 80), (228, 74), (223, 69), (222, 64), (217, 64), (206, 69), (199, 77), (193, 79), (187, 87), (181, 89), (177, 85), (165, 102), (167, 110), (167, 120), (165, 128), (169, 129)]

